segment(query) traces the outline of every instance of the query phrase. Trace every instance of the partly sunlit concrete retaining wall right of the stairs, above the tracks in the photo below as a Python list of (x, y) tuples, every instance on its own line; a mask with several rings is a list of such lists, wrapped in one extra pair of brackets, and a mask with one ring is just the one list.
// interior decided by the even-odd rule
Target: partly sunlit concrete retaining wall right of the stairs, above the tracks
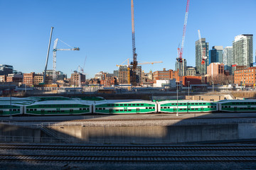
[(99, 143), (178, 143), (256, 138), (256, 124), (141, 127), (51, 127), (70, 141)]

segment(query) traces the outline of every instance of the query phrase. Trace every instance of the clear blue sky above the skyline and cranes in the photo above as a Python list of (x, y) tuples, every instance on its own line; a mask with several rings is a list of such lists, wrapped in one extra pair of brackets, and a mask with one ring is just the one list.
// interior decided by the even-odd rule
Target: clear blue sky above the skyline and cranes
[[(53, 41), (63, 40), (80, 51), (57, 52), (56, 69), (70, 77), (84, 65), (87, 77), (118, 69), (132, 59), (130, 0), (0, 0), (0, 64), (23, 73), (43, 72), (50, 27), (53, 40), (48, 69), (53, 67)], [(230, 46), (236, 35), (256, 35), (256, 0), (191, 0), (183, 58), (195, 66), (195, 41)], [(137, 60), (163, 61), (142, 65), (145, 72), (175, 69), (181, 44), (186, 0), (134, 0)], [(255, 38), (253, 40), (255, 61)], [(58, 48), (69, 48), (59, 42)]]

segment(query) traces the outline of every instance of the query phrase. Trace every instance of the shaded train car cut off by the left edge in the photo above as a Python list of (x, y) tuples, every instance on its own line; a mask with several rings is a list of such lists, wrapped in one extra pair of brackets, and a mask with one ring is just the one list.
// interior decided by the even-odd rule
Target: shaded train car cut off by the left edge
[(1, 101), (0, 102), (0, 116), (9, 116), (9, 115), (22, 115), (23, 114), (23, 105), (16, 103), (10, 103), (10, 101)]

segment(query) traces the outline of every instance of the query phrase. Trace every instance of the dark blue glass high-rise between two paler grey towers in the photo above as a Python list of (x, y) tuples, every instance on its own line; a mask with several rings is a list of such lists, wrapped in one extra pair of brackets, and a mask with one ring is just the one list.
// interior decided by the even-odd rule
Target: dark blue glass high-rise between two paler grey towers
[(223, 63), (223, 46), (213, 46), (209, 52), (209, 64), (212, 62)]

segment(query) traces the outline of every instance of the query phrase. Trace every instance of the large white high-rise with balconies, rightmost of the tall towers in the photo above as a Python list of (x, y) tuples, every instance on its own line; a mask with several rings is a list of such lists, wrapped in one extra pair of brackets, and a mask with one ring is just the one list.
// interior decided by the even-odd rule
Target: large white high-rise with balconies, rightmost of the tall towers
[(235, 36), (233, 41), (233, 59), (238, 66), (252, 66), (252, 34)]

